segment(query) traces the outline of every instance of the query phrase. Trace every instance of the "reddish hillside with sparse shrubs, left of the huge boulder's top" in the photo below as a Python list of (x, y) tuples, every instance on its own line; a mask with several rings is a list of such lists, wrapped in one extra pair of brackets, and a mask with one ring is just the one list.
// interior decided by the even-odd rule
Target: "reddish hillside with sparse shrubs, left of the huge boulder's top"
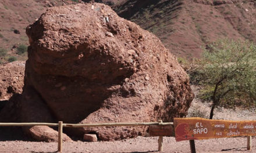
[[(51, 6), (68, 5), (71, 0), (1, 0), (0, 1), (0, 63), (26, 60), (29, 41), (27, 25), (33, 23)], [(19, 49), (18, 49), (19, 48)], [(19, 51), (20, 50), (20, 51)], [(12, 57), (12, 58), (11, 58)]]

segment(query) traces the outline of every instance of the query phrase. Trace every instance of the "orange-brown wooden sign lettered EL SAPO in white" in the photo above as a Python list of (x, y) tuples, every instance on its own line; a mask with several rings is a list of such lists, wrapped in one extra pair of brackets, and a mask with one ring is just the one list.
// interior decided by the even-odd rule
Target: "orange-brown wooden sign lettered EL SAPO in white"
[(256, 121), (174, 118), (176, 141), (256, 136)]

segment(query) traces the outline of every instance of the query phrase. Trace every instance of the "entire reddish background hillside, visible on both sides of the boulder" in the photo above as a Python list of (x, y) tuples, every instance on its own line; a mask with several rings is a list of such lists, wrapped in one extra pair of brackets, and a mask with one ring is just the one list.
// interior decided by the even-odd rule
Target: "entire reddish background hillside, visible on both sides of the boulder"
[[(0, 2), (0, 60), (8, 61), (11, 56), (17, 57), (18, 60), (25, 60), (26, 53), (17, 54), (17, 48), (22, 44), (29, 45), (25, 34), (26, 26), (40, 17), (48, 7), (80, 1), (2, 0)], [(119, 16), (153, 32), (170, 52), (186, 59), (200, 57), (201, 48), (219, 38), (250, 39), (256, 42), (254, 37), (256, 2), (254, 0), (94, 1), (110, 5)], [(8, 52), (4, 59), (3, 51)]]

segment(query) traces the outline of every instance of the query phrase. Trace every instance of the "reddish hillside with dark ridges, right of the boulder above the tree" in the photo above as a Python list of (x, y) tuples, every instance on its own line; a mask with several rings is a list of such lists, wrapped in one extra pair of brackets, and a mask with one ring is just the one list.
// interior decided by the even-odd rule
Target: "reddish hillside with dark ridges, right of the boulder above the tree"
[(219, 38), (256, 42), (254, 0), (129, 0), (113, 1), (112, 7), (187, 59), (200, 57), (201, 47)]

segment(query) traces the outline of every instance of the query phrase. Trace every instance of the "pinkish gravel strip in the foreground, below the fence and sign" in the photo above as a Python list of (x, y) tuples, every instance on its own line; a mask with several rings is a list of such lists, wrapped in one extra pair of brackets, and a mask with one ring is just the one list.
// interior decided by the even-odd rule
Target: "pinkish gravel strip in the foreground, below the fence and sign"
[[(158, 137), (137, 137), (122, 141), (63, 143), (63, 152), (158, 152)], [(253, 141), (256, 141), (253, 138)], [(246, 150), (246, 137), (195, 141), (197, 152), (256, 152)], [(0, 152), (55, 152), (57, 143), (1, 141)], [(190, 152), (189, 141), (176, 142), (174, 137), (164, 137), (163, 152)]]

